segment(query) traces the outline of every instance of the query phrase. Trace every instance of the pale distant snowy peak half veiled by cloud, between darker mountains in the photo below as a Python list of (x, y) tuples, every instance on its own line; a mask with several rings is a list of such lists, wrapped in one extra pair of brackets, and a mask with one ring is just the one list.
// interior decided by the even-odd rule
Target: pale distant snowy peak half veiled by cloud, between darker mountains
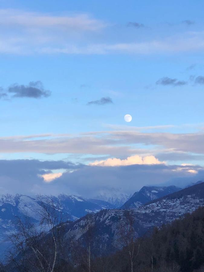
[(114, 205), (116, 208), (121, 207), (129, 198), (130, 194), (121, 193), (121, 191), (117, 191), (116, 189), (112, 189), (112, 191), (101, 190), (99, 194), (95, 197), (95, 199), (100, 199), (105, 202), (109, 202)]

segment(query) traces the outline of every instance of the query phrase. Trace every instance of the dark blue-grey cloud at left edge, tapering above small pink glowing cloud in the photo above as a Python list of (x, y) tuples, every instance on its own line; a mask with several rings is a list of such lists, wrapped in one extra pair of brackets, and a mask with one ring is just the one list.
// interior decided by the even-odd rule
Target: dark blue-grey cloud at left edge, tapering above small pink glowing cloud
[[(0, 190), (1, 193), (11, 194), (51, 194), (56, 188), (48, 188), (41, 175), (50, 173), (51, 170), (80, 168), (83, 168), (82, 164), (61, 160), (0, 160)], [(58, 189), (63, 192), (63, 189)]]

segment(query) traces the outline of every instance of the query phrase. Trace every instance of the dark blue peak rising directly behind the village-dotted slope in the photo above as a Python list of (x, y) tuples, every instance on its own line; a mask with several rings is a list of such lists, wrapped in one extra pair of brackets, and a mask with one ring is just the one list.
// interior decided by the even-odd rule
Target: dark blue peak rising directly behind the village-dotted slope
[(144, 186), (139, 192), (135, 192), (128, 201), (121, 206), (121, 209), (137, 208), (151, 200), (177, 192), (181, 188), (176, 186)]

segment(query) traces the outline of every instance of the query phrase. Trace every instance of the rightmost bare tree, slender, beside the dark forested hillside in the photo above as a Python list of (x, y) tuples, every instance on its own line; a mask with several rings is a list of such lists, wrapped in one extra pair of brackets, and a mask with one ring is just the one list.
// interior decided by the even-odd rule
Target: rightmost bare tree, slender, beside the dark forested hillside
[(138, 256), (140, 244), (138, 244), (137, 254), (135, 255), (135, 241), (137, 238), (134, 230), (134, 214), (132, 210), (124, 210), (123, 216), (119, 218), (118, 239), (120, 248), (127, 248), (130, 258), (131, 272), (133, 272), (134, 261)]

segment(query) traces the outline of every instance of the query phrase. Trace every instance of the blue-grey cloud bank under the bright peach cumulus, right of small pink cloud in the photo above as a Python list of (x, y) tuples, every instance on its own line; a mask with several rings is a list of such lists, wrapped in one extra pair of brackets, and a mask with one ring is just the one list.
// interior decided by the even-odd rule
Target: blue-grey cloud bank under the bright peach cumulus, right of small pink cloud
[[(198, 171), (188, 172), (189, 167)], [(65, 172), (53, 181), (54, 186), (69, 188), (70, 192), (94, 198), (100, 192), (111, 193), (116, 189), (123, 193), (134, 193), (145, 185), (173, 184), (185, 186), (204, 178), (203, 169), (197, 166), (180, 165), (129, 165), (117, 167), (87, 166), (74, 171)]]

